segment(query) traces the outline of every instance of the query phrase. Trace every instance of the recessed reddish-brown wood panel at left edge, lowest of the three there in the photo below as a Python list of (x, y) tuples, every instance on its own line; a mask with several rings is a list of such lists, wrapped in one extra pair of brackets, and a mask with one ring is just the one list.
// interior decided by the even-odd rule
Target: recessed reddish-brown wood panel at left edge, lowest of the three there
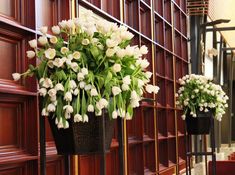
[(0, 149), (3, 146), (18, 146), (19, 118), (18, 104), (0, 103)]

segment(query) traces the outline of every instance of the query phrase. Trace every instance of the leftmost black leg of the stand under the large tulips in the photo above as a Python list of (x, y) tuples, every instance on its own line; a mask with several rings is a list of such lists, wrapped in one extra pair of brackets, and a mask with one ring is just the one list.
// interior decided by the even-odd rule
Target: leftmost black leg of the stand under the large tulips
[(40, 125), (40, 172), (41, 175), (46, 175), (45, 117), (41, 115), (39, 115), (39, 125)]

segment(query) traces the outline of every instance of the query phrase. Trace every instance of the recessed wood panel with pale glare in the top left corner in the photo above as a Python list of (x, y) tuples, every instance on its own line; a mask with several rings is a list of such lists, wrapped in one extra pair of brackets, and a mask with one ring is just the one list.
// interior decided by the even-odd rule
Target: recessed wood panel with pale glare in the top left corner
[(18, 0), (1, 0), (0, 14), (16, 18), (18, 3)]

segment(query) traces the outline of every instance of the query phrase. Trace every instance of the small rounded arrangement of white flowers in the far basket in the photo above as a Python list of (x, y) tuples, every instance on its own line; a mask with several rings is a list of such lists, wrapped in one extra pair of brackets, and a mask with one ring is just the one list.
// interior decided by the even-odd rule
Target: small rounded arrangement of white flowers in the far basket
[(179, 79), (181, 87), (176, 94), (176, 104), (183, 108), (185, 119), (187, 113), (196, 117), (197, 111), (212, 110), (214, 117), (221, 121), (225, 108), (228, 107), (228, 96), (221, 86), (212, 83), (212, 80), (202, 75), (186, 75)]

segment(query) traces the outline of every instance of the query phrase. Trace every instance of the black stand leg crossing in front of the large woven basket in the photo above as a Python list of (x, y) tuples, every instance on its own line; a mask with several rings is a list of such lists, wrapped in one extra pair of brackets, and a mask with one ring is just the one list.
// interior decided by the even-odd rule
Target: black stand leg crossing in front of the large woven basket
[(104, 111), (102, 111), (101, 137), (102, 137), (102, 147), (101, 147), (100, 174), (101, 175), (106, 175), (105, 112)]

